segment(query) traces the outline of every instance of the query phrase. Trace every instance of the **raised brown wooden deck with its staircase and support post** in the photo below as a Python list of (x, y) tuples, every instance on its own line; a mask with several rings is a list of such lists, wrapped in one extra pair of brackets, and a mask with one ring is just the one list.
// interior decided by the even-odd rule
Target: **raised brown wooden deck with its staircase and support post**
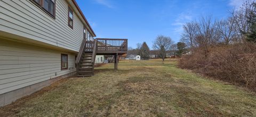
[[(92, 76), (94, 74), (96, 55), (114, 55), (115, 70), (117, 70), (117, 58), (119, 55), (127, 53), (127, 44), (127, 39), (97, 38), (93, 41), (83, 40), (76, 59), (78, 76)], [(85, 71), (84, 69), (89, 68), (89, 65), (92, 66), (91, 69)]]

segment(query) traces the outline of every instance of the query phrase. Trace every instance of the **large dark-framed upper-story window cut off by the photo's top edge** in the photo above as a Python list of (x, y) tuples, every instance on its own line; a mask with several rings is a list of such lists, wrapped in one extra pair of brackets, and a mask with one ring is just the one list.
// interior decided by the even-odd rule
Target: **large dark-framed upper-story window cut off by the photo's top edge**
[(31, 0), (55, 19), (55, 0)]

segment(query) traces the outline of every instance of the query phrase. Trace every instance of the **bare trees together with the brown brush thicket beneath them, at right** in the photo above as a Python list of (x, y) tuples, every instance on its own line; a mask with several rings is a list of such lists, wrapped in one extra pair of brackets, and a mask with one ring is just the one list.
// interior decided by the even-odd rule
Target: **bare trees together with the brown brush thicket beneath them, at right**
[(191, 55), (183, 56), (179, 66), (256, 91), (256, 43), (246, 41), (255, 7), (249, 0), (227, 20), (209, 16), (185, 24), (181, 41)]

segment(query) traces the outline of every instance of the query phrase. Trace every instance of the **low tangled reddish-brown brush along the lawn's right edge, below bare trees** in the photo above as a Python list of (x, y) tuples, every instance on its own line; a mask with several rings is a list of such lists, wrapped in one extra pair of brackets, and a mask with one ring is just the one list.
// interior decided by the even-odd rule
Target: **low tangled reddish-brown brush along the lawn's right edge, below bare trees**
[(234, 44), (211, 48), (207, 58), (197, 48), (192, 55), (183, 56), (179, 67), (192, 69), (206, 76), (246, 86), (256, 91), (256, 45)]

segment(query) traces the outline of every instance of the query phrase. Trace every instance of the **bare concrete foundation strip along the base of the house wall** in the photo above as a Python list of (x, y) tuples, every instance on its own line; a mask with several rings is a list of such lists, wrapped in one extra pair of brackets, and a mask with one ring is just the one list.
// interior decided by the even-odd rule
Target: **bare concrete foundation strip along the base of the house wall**
[(5, 106), (7, 104), (11, 104), (12, 102), (18, 100), (21, 97), (30, 95), (35, 93), (36, 91), (39, 91), (40, 89), (42, 89), (43, 87), (46, 86), (50, 86), (52, 83), (62, 79), (62, 78), (66, 78), (69, 76), (74, 76), (76, 74), (76, 72), (73, 73), (69, 73), (63, 76), (59, 76), (53, 79), (49, 79), (49, 80), (45, 80), (41, 83), (37, 83), (34, 85), (30, 85), (30, 86), (26, 86), (20, 89), (16, 89), (14, 91), (11, 92), (7, 92), (4, 94), (0, 94), (0, 107)]

